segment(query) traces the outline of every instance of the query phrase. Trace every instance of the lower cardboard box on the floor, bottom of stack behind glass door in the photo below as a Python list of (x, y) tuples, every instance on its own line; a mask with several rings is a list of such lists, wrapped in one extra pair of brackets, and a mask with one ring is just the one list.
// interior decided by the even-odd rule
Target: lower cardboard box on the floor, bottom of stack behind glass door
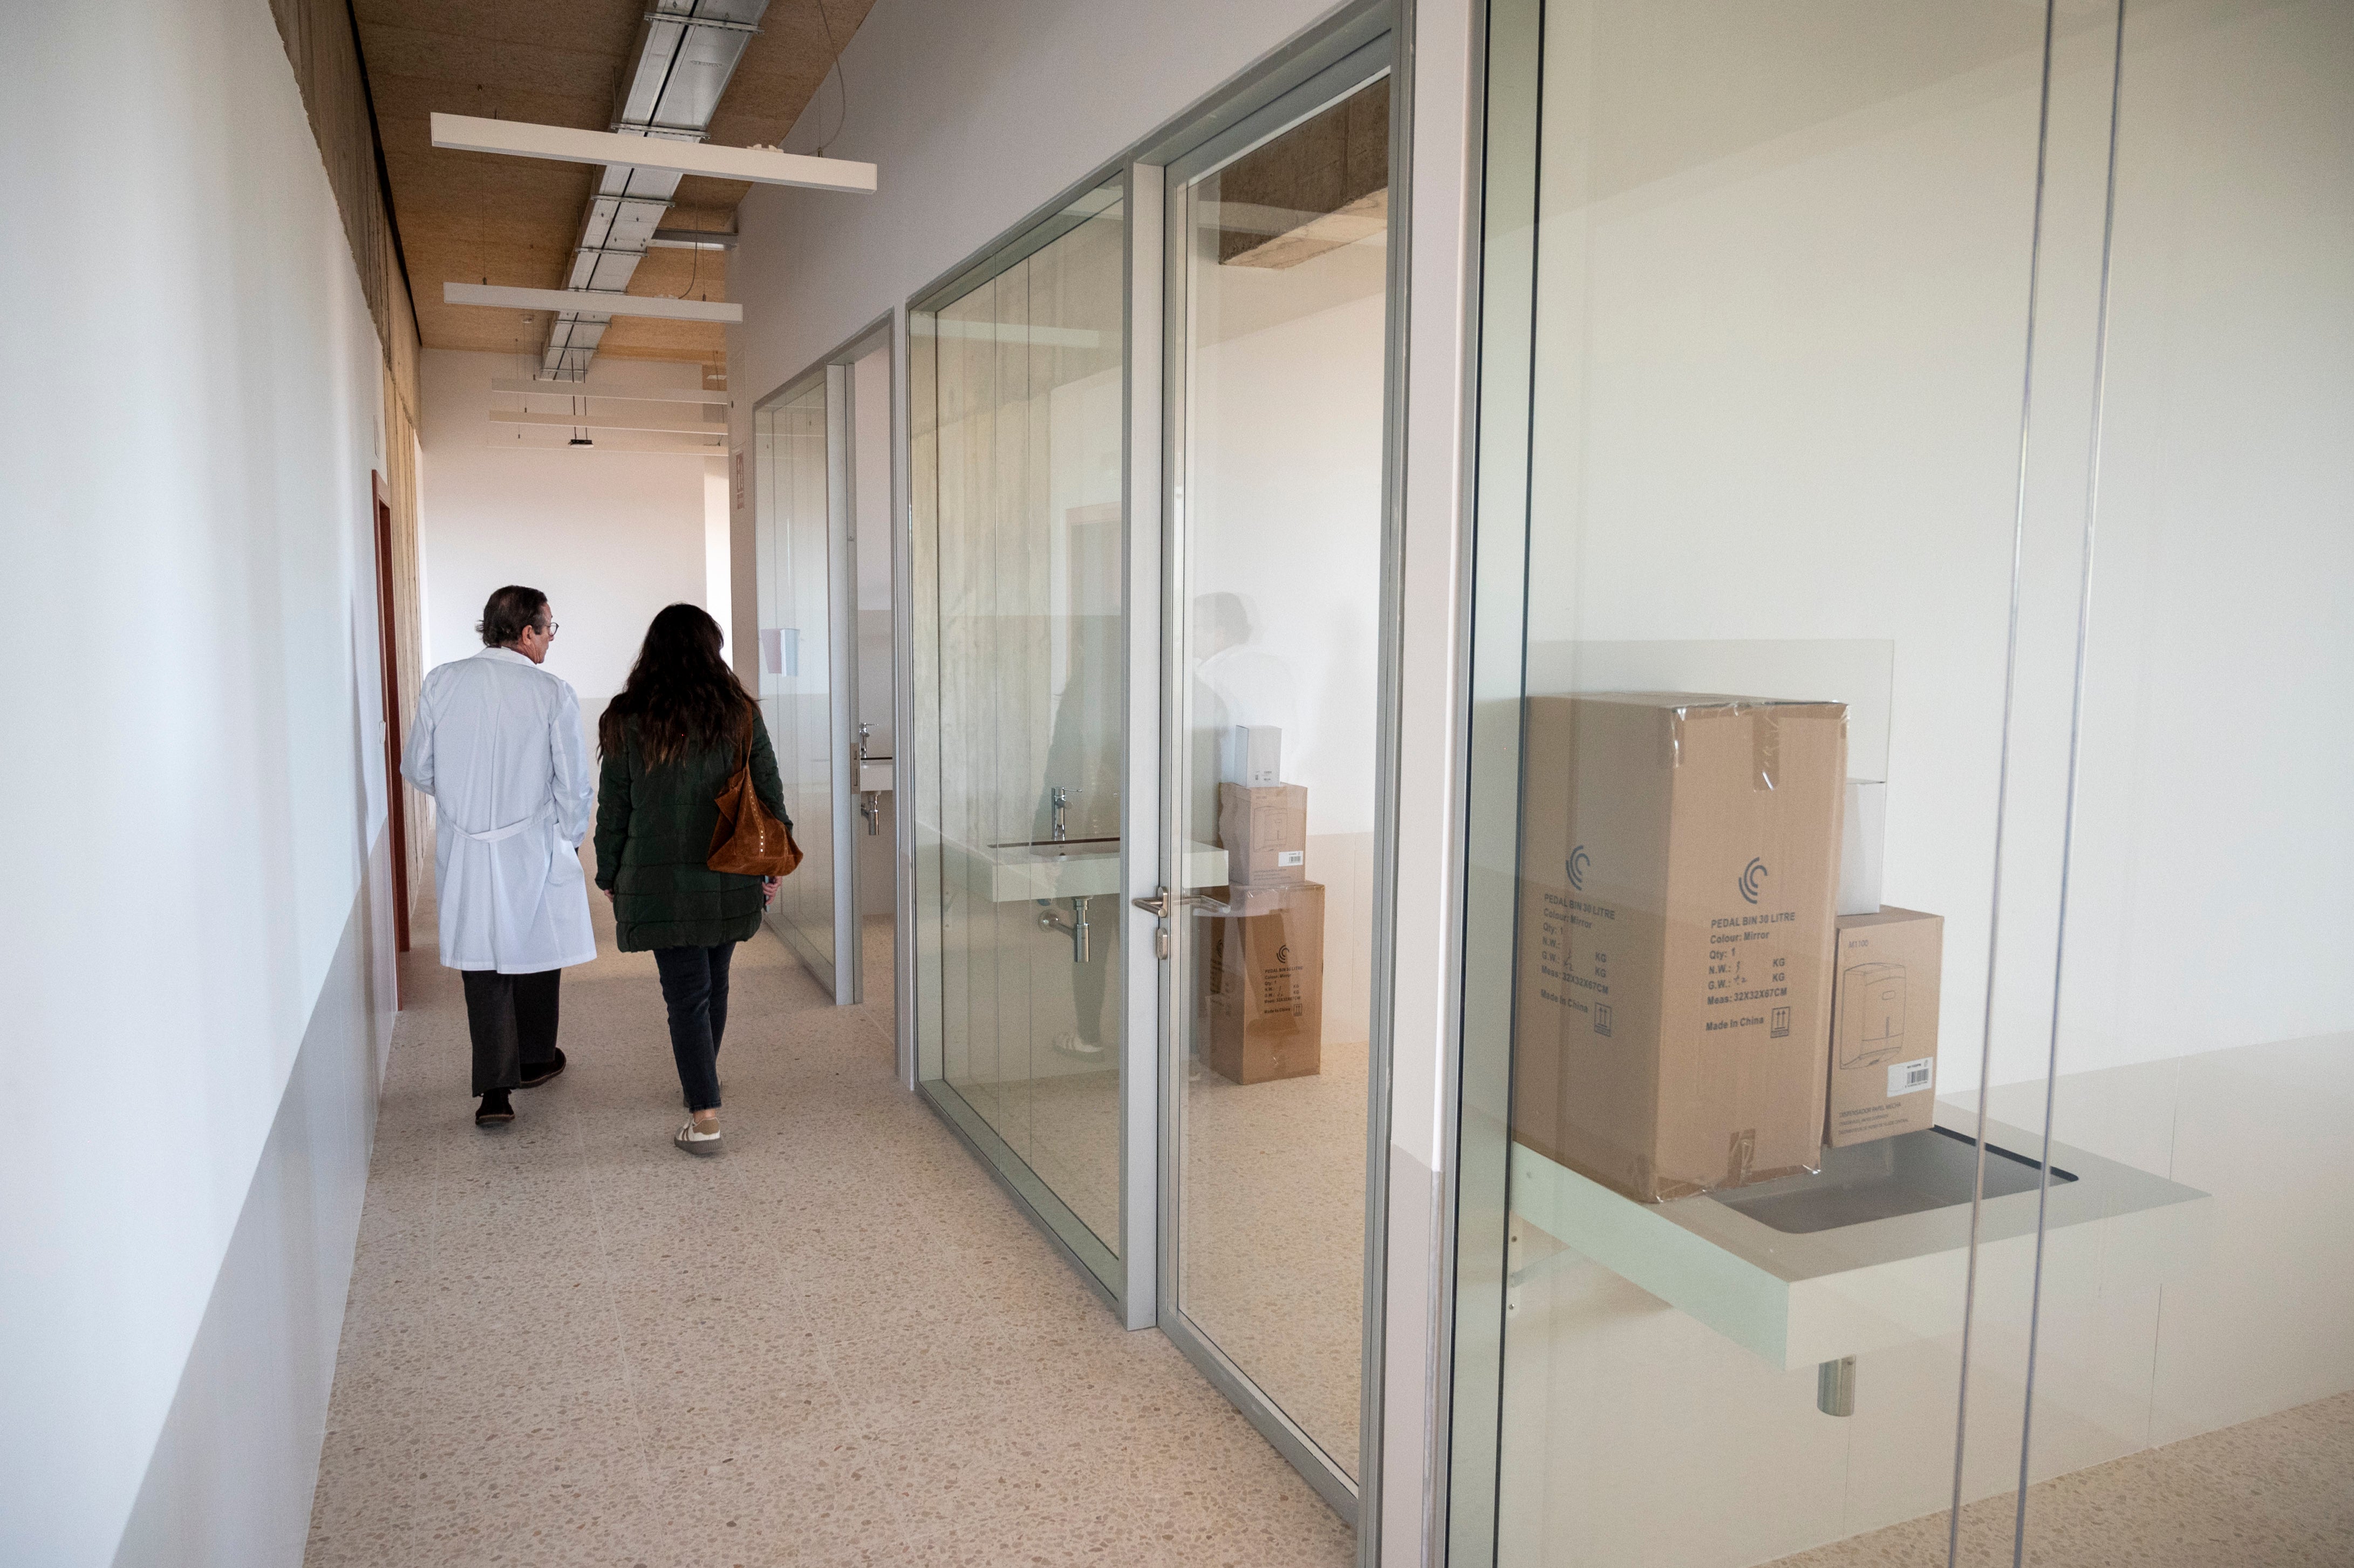
[(1210, 1067), (1233, 1083), (1323, 1067), (1323, 883), (1233, 888), (1203, 963)]

